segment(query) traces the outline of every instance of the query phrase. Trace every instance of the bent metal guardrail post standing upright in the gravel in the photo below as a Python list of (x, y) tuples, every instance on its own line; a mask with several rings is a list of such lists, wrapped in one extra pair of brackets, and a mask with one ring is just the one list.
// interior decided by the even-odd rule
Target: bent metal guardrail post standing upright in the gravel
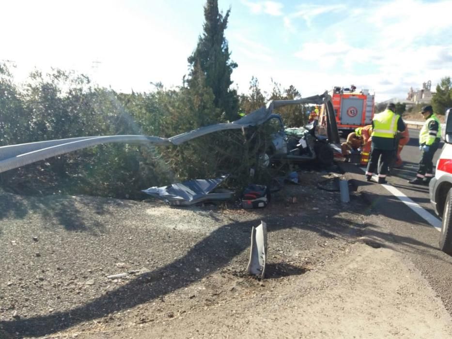
[(267, 253), (267, 225), (264, 221), (258, 227), (251, 229), (251, 247), (247, 273), (249, 275), (265, 277), (265, 263)]

